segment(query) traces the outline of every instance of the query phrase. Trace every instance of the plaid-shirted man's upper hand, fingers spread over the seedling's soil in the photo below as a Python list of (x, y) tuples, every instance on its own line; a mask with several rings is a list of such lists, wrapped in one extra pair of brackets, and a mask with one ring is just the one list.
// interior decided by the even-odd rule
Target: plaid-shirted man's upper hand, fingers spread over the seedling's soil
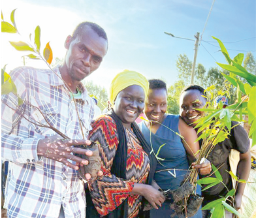
[(78, 170), (79, 166), (70, 163), (68, 159), (71, 161), (76, 161), (76, 163), (87, 165), (89, 163), (87, 160), (76, 157), (73, 153), (80, 153), (91, 156), (93, 155), (93, 152), (89, 149), (72, 147), (85, 144), (90, 145), (91, 141), (63, 139), (60, 136), (55, 135), (39, 140), (37, 145), (37, 154), (54, 161), (59, 161), (74, 170)]

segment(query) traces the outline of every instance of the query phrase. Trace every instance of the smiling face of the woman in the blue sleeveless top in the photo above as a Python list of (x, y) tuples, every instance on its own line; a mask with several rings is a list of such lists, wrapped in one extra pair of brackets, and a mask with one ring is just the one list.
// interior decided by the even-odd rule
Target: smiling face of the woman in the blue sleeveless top
[[(163, 122), (167, 111), (167, 91), (165, 89), (150, 89), (145, 102), (144, 113), (150, 121)], [(152, 125), (157, 123), (153, 122)]]

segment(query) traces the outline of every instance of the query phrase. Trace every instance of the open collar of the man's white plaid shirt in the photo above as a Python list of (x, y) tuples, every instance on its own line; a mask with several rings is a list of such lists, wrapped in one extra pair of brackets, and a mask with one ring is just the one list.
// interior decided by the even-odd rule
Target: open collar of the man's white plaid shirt
[[(59, 65), (57, 65), (57, 67), (54, 67), (54, 72), (50, 72), (50, 85), (51, 86), (65, 86), (62, 78), (61, 78), (61, 72), (59, 71)], [(86, 89), (86, 86), (84, 86), (84, 84), (82, 84), (82, 82), (80, 82), (80, 84), (78, 84), (78, 89), (81, 91), (82, 93), (82, 100), (86, 101), (88, 104), (90, 102), (90, 97), (88, 95), (88, 91)]]

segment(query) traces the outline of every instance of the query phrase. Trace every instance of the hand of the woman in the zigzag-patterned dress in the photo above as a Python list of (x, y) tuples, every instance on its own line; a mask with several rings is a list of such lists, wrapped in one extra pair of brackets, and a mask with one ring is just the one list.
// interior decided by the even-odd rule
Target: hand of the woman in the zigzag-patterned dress
[(146, 198), (146, 200), (148, 200), (155, 209), (158, 209), (158, 206), (161, 207), (163, 202), (165, 202), (165, 196), (160, 191), (152, 187), (152, 185), (135, 183), (131, 193), (134, 195), (144, 196), (144, 198)]

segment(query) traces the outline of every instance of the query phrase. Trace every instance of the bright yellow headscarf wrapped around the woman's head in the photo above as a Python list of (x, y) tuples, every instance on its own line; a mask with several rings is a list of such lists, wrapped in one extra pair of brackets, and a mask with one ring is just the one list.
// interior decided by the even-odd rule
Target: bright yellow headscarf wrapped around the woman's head
[(139, 72), (131, 70), (123, 70), (115, 76), (110, 85), (110, 102), (114, 105), (116, 96), (120, 91), (125, 89), (128, 86), (138, 85), (142, 87), (145, 93), (145, 97), (148, 95), (148, 88), (150, 86), (148, 80), (145, 76)]

